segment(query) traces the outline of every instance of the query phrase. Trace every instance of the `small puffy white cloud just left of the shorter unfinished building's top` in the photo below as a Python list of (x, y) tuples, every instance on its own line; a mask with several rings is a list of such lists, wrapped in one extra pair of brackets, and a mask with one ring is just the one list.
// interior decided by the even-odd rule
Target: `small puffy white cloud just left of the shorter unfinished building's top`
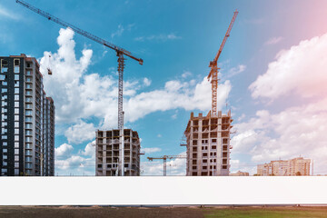
[(70, 126), (64, 132), (64, 136), (66, 136), (70, 144), (81, 144), (84, 141), (89, 141), (95, 137), (94, 124), (86, 124), (84, 121), (80, 121)]

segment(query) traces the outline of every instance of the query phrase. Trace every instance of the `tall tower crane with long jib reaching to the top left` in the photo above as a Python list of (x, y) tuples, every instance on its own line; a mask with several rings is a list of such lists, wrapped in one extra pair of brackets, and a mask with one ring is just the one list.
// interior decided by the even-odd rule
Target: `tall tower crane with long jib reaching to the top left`
[[(136, 57), (131, 52), (125, 50), (122, 47), (119, 47), (117, 45), (114, 45), (98, 36), (95, 36), (93, 34), (90, 34), (75, 25), (71, 25), (67, 22), (64, 22), (63, 20), (59, 19), (58, 17), (55, 17), (54, 15), (50, 15), (49, 13), (36, 8), (33, 5), (30, 5), (26, 3), (25, 1), (16, 0), (17, 4), (23, 5), (26, 8), (30, 9), (31, 11), (34, 11), (36, 14), (42, 15), (45, 18), (47, 18), (49, 21), (53, 21), (54, 23), (57, 23), (58, 25), (63, 25), (66, 28), (72, 29), (75, 33), (79, 35), (83, 35), (86, 38), (89, 38), (93, 40), (94, 42), (104, 45), (106, 47), (109, 47), (113, 49), (116, 52), (116, 55), (118, 56), (118, 74), (119, 74), (119, 82), (118, 82), (118, 129), (120, 130), (120, 140), (121, 140), (121, 154), (120, 154), (120, 163), (121, 163), (121, 172), (122, 175), (124, 175), (124, 111), (123, 111), (123, 75), (124, 75), (124, 56), (128, 56), (135, 61), (137, 61), (139, 64), (143, 64), (143, 59)], [(52, 74), (49, 73), (49, 74)]]

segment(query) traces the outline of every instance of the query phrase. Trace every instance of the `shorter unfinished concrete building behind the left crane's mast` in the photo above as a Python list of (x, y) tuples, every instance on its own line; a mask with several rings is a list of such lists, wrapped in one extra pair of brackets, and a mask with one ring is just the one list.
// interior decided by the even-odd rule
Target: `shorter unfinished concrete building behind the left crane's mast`
[[(96, 131), (95, 175), (115, 176), (120, 172), (120, 130)], [(124, 176), (140, 175), (140, 139), (136, 131), (124, 129)]]

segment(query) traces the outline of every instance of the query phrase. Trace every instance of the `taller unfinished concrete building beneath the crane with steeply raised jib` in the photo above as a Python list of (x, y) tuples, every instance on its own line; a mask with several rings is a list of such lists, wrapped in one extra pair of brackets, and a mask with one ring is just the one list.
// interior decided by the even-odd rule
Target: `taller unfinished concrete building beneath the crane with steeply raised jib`
[(186, 175), (229, 175), (231, 111), (217, 115), (209, 112), (191, 118), (186, 136)]

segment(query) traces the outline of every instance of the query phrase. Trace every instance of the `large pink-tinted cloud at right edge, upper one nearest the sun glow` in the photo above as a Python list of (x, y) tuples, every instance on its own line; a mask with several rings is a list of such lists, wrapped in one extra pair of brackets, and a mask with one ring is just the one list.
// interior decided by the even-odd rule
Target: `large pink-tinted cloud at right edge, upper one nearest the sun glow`
[(265, 74), (249, 89), (253, 98), (276, 99), (295, 93), (302, 97), (327, 93), (327, 34), (303, 40), (299, 45), (276, 55)]

